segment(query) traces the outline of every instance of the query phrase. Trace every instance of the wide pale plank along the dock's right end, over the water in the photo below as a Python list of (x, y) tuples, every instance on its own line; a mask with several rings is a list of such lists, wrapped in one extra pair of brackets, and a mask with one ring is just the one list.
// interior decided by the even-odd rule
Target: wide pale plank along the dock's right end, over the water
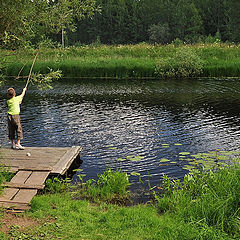
[(71, 149), (69, 149), (54, 166), (52, 173), (59, 173), (63, 175), (81, 150), (82, 148), (79, 146), (73, 146)]

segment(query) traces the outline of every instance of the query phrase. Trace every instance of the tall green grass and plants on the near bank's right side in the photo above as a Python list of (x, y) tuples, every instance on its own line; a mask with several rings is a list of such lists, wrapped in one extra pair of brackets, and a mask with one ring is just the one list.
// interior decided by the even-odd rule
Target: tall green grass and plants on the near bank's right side
[(198, 229), (215, 228), (239, 238), (240, 166), (196, 171), (183, 182), (163, 176), (164, 196), (156, 200), (161, 212), (171, 212)]

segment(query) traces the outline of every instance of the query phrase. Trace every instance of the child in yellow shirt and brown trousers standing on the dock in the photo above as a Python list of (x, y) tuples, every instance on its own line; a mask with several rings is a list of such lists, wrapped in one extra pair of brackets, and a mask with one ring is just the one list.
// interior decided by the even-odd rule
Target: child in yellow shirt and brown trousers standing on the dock
[[(12, 149), (24, 150), (21, 146), (20, 141), (23, 138), (22, 125), (20, 119), (20, 104), (22, 103), (23, 97), (27, 91), (24, 88), (21, 95), (16, 96), (16, 92), (13, 88), (8, 89), (8, 136), (12, 143)], [(15, 133), (17, 133), (17, 142), (15, 144)]]

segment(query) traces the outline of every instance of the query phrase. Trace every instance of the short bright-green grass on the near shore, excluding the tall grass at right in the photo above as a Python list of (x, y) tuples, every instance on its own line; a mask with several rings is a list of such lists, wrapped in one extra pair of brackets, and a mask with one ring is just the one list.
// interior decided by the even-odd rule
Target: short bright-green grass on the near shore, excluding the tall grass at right
[(11, 239), (230, 239), (214, 229), (203, 232), (172, 215), (159, 215), (152, 206), (94, 206), (68, 194), (34, 198), (28, 215), (52, 221), (27, 231), (14, 228)]

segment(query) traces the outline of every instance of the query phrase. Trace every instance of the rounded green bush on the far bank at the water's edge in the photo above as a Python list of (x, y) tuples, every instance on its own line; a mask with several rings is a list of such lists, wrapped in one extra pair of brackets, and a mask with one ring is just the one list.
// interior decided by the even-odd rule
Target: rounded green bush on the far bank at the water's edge
[(180, 48), (171, 58), (156, 64), (155, 73), (160, 78), (198, 77), (202, 73), (203, 62), (195, 51)]

